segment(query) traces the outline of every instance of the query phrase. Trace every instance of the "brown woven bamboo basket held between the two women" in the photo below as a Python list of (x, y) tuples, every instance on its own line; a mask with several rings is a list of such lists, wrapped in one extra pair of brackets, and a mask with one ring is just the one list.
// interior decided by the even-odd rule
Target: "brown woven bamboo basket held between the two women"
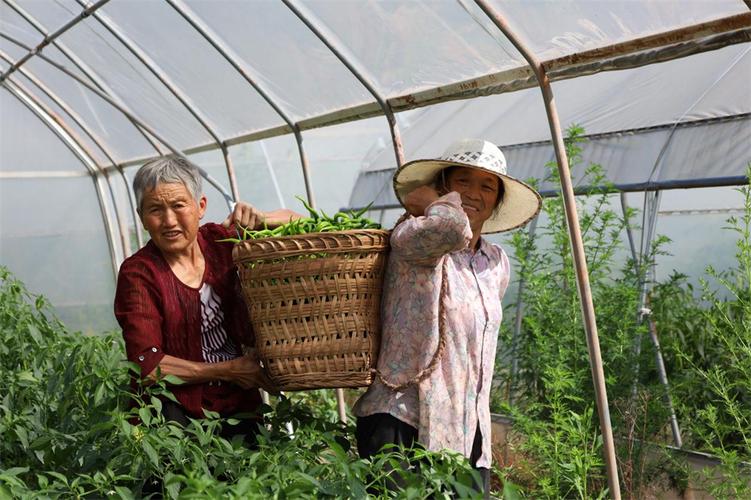
[(258, 357), (280, 390), (373, 381), (388, 237), (368, 229), (235, 246)]

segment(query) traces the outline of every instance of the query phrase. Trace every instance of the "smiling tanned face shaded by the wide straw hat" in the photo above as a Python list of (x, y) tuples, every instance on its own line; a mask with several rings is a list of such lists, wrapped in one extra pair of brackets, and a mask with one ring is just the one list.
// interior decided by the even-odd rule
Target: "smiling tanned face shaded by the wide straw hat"
[(483, 170), (452, 167), (446, 173), (446, 188), (462, 198), (462, 208), (472, 232), (479, 234), (483, 223), (493, 214), (499, 200), (501, 179)]

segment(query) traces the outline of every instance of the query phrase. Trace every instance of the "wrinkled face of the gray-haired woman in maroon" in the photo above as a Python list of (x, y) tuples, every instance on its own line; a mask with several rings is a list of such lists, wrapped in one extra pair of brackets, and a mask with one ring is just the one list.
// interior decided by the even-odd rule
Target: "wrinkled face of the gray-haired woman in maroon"
[(159, 250), (179, 254), (196, 241), (205, 212), (206, 197), (196, 202), (185, 184), (157, 184), (143, 195), (141, 221)]

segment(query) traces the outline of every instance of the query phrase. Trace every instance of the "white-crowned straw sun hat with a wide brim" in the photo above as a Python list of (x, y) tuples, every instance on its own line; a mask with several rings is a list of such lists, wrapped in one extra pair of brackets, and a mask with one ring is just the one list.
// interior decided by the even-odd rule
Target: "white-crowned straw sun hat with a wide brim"
[(495, 144), (482, 139), (463, 139), (453, 143), (435, 160), (414, 160), (394, 174), (394, 191), (399, 203), (413, 189), (433, 183), (444, 168), (475, 168), (497, 175), (505, 193), (498, 209), (482, 226), (483, 233), (500, 233), (523, 226), (540, 211), (542, 198), (529, 185), (506, 175), (506, 158)]

